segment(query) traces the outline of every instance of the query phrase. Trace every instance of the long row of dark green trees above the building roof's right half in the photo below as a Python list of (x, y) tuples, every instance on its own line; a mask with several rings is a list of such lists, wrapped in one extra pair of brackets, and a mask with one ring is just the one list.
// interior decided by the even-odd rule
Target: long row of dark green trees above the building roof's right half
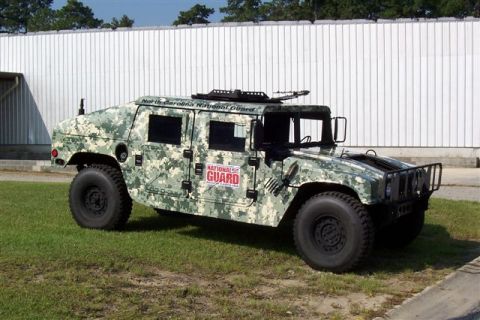
[(222, 21), (480, 16), (480, 0), (229, 0)]

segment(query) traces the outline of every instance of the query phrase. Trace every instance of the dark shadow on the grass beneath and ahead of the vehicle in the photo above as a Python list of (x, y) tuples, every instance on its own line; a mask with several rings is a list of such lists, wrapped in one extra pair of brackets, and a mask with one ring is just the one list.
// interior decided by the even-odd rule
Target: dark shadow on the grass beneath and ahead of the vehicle
[[(152, 216), (127, 224), (127, 232), (178, 229), (188, 237), (274, 250), (296, 255), (291, 226), (279, 228), (173, 213)], [(451, 237), (445, 227), (426, 224), (420, 236), (403, 249), (376, 246), (357, 273), (421, 271), (427, 268), (458, 268), (480, 255), (480, 242)]]

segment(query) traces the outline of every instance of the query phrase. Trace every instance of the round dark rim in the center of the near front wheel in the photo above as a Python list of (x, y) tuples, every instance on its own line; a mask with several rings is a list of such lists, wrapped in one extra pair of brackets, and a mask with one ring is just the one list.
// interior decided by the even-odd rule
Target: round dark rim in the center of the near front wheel
[(318, 219), (313, 228), (315, 245), (324, 253), (340, 252), (346, 242), (345, 229), (340, 220), (334, 217)]

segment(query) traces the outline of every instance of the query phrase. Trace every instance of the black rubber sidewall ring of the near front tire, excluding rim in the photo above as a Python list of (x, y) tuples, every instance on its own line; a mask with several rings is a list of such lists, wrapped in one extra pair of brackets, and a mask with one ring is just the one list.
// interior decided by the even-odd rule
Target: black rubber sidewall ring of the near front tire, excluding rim
[[(323, 253), (315, 244), (313, 231), (321, 217), (334, 217), (344, 228), (346, 242), (342, 250), (334, 254)], [(362, 247), (362, 223), (354, 208), (331, 196), (314, 198), (305, 203), (297, 216), (295, 234), (298, 249), (305, 261), (315, 269), (342, 270), (355, 261)]]

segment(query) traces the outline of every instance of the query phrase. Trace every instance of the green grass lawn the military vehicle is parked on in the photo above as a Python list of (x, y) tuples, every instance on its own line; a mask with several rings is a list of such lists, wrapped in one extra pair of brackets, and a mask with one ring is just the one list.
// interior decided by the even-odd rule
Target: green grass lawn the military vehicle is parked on
[(122, 232), (86, 230), (67, 184), (0, 182), (0, 318), (370, 319), (480, 254), (480, 203), (431, 200), (408, 248), (335, 275), (288, 230), (164, 217), (136, 205)]

